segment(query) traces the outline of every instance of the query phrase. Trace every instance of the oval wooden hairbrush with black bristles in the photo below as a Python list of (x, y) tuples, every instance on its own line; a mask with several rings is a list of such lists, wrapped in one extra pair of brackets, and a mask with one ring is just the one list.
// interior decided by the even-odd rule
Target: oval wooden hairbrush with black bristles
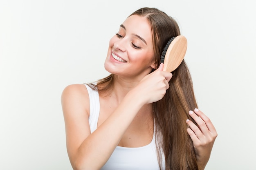
[(172, 72), (180, 66), (185, 57), (187, 40), (183, 35), (171, 38), (161, 55), (160, 63), (164, 63), (163, 71)]

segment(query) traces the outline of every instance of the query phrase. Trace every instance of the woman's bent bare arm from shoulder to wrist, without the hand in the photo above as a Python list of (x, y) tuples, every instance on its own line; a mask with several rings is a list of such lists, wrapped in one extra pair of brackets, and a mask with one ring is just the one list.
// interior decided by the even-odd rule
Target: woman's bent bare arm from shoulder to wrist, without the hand
[(98, 170), (111, 156), (143, 103), (135, 102), (132, 95), (127, 94), (110, 117), (91, 134), (88, 121), (90, 102), (88, 94), (81, 89), (85, 86), (81, 86), (67, 86), (61, 97), (67, 152), (74, 170)]

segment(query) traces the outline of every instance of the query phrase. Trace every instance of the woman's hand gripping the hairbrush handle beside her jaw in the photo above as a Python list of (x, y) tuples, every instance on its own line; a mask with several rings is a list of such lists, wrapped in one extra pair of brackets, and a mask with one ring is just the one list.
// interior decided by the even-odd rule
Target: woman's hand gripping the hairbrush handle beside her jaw
[(173, 76), (172, 73), (163, 71), (164, 64), (160, 64), (159, 68), (154, 72), (146, 75), (139, 84), (133, 89), (135, 94), (140, 95), (139, 98), (145, 104), (157, 102), (162, 99), (169, 88), (168, 82)]

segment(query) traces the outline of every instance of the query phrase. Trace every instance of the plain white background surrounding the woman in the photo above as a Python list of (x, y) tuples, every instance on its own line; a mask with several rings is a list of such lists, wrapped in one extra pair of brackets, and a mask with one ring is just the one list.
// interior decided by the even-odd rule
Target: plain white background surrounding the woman
[(141, 7), (176, 18), (188, 40), (199, 108), (218, 130), (206, 170), (256, 170), (253, 0), (1, 0), (1, 170), (72, 170), (63, 88), (109, 74), (108, 41)]

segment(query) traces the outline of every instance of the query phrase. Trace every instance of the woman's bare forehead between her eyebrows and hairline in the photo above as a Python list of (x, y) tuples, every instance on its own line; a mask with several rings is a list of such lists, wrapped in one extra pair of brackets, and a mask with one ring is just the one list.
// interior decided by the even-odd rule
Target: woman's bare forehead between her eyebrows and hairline
[(147, 41), (152, 42), (151, 25), (147, 18), (139, 15), (131, 15), (128, 17), (123, 25), (126, 33), (137, 34)]

